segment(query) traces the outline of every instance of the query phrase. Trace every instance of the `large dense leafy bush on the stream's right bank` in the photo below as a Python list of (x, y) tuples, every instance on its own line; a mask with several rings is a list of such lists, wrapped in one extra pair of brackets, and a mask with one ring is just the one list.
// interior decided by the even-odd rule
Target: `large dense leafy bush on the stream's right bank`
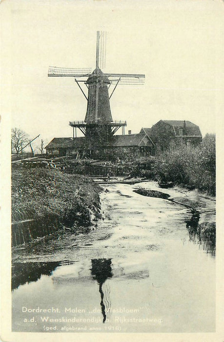
[(215, 135), (206, 134), (197, 148), (181, 143), (172, 150), (162, 152), (155, 159), (154, 175), (163, 182), (173, 181), (215, 195)]

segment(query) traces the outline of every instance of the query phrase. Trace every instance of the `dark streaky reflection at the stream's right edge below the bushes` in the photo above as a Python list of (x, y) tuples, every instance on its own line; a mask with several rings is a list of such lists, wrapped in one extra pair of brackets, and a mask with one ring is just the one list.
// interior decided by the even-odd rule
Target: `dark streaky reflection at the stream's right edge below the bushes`
[(199, 224), (200, 215), (194, 212), (191, 219), (186, 221), (189, 240), (203, 247), (203, 250), (215, 256), (216, 253), (216, 224), (203, 222)]

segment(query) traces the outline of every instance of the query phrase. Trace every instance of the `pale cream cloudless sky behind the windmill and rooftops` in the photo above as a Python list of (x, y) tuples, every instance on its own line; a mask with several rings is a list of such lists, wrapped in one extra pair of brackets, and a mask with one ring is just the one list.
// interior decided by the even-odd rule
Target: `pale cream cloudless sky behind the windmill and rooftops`
[(145, 74), (144, 85), (118, 85), (111, 97), (112, 117), (127, 121), (126, 133), (161, 119), (189, 120), (203, 136), (216, 132), (223, 109), (222, 0), (5, 0), (1, 6), (2, 118), (30, 138), (41, 134), (36, 145), (72, 136), (69, 121), (84, 120), (87, 102), (74, 79), (48, 77), (48, 66), (94, 70), (97, 30), (107, 32), (102, 71)]

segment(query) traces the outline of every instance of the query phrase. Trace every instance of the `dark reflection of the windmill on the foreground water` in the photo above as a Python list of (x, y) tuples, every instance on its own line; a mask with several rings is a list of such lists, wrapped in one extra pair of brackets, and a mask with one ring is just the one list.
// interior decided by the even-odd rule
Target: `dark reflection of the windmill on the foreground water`
[[(111, 269), (111, 259), (92, 259), (92, 269), (91, 274), (95, 280), (97, 280), (99, 286), (99, 292), (101, 294), (101, 310), (103, 316), (103, 323), (106, 321), (106, 311), (110, 307), (109, 300), (109, 289), (103, 293), (102, 284), (106, 281), (107, 278), (112, 278), (112, 269)], [(105, 307), (108, 306), (108, 307)], [(106, 309), (106, 310), (105, 310)]]

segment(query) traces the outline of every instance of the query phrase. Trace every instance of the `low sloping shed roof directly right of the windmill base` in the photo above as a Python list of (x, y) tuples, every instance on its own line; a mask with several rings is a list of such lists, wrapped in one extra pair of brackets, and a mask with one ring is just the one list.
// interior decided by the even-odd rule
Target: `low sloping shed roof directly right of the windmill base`
[(105, 147), (131, 147), (140, 146), (145, 134), (128, 134), (128, 135), (113, 135), (110, 141), (103, 145)]

